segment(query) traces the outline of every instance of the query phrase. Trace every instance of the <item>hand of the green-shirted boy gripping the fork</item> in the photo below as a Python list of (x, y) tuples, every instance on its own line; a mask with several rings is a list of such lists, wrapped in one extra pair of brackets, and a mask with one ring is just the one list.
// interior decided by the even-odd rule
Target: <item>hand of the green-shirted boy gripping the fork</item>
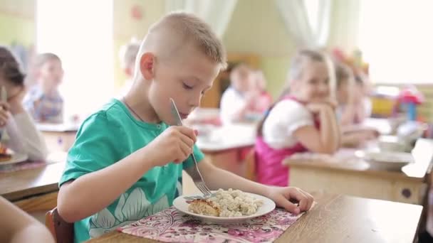
[(181, 163), (193, 151), (197, 141), (196, 132), (186, 126), (170, 126), (157, 136), (155, 140), (145, 146), (146, 152), (152, 151), (153, 166), (165, 166), (169, 162)]

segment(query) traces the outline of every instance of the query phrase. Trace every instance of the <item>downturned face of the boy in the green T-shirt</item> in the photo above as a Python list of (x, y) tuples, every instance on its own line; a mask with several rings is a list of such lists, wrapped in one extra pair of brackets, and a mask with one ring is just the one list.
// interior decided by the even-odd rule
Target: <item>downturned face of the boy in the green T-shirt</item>
[(174, 124), (169, 98), (174, 99), (182, 119), (199, 107), (204, 92), (212, 87), (219, 65), (195, 50), (184, 48), (170, 60), (154, 63), (149, 101), (161, 121)]

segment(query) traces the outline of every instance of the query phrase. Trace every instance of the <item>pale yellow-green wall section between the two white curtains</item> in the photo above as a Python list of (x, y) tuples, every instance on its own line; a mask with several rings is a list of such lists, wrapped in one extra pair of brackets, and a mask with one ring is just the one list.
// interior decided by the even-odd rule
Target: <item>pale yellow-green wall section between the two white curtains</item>
[(286, 80), (295, 45), (273, 1), (238, 0), (223, 37), (228, 52), (254, 53), (268, 80), (268, 91), (278, 96)]

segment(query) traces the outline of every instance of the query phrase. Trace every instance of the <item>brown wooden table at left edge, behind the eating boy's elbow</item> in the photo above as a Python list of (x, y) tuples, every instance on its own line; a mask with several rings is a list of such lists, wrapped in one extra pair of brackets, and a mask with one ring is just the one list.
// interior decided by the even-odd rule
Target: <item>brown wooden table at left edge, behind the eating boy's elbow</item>
[(57, 205), (58, 180), (66, 162), (11, 173), (0, 173), (0, 196), (26, 212), (51, 210)]

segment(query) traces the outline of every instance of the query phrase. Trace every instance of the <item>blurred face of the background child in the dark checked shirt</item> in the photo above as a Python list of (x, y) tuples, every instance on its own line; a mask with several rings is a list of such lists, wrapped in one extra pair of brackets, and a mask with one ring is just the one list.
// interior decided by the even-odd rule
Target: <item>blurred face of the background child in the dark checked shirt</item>
[(40, 80), (48, 87), (58, 87), (63, 79), (63, 68), (58, 60), (47, 60), (39, 70)]

